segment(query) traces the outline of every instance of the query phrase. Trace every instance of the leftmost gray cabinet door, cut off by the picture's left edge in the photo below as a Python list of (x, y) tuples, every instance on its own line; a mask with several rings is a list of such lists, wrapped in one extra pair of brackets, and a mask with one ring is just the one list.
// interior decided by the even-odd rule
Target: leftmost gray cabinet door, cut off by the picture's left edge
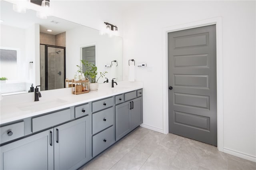
[(53, 128), (0, 147), (1, 170), (53, 170)]

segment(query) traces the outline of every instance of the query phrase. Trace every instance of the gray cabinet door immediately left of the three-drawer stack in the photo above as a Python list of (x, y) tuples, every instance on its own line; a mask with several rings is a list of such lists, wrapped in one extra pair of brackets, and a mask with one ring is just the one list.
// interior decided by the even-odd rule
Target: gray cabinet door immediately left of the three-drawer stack
[(78, 169), (91, 158), (90, 116), (54, 128), (54, 170)]

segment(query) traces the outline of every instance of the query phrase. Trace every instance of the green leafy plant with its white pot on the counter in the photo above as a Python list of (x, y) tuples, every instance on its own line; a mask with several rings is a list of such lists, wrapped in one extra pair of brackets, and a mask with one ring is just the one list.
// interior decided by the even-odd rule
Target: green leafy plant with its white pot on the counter
[(104, 77), (107, 71), (100, 72), (100, 76), (97, 78), (98, 72), (97, 67), (93, 63), (89, 63), (87, 60), (80, 60), (82, 65), (85, 67), (85, 71), (82, 72), (82, 67), (80, 65), (76, 65), (78, 67), (78, 72), (83, 73), (84, 77), (88, 77), (90, 80), (89, 89), (90, 91), (98, 91), (98, 80), (100, 77)]

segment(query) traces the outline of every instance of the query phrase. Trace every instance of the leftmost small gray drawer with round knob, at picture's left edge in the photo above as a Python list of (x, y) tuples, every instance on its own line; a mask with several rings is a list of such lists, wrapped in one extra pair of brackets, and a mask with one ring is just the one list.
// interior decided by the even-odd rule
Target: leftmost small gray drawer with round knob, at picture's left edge
[(24, 122), (6, 125), (0, 128), (1, 143), (24, 136)]

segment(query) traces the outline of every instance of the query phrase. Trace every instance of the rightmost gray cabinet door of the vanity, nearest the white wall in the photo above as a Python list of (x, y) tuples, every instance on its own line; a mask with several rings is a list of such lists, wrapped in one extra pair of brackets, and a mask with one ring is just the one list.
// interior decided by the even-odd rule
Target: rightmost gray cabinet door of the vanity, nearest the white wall
[(131, 130), (142, 124), (142, 97), (132, 100)]

